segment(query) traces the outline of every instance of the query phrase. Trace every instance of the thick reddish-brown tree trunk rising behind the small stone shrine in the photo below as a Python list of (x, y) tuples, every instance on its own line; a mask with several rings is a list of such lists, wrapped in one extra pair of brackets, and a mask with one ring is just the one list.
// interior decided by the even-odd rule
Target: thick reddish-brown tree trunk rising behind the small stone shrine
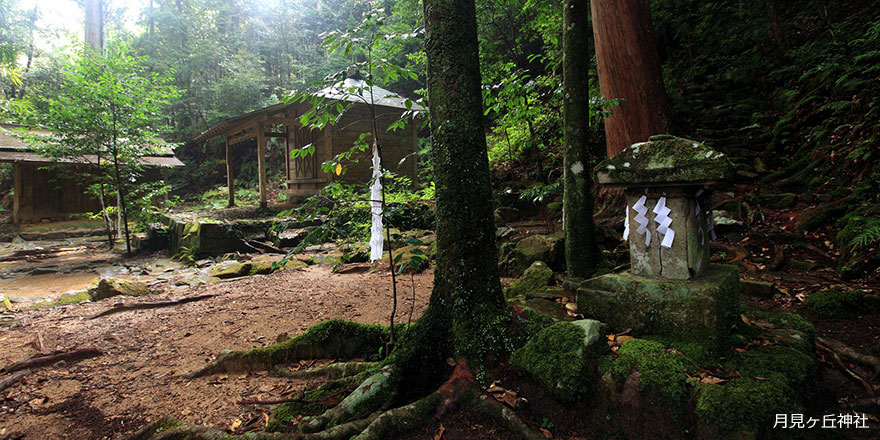
[(624, 102), (605, 118), (608, 156), (669, 131), (669, 103), (648, 0), (592, 0), (599, 87)]

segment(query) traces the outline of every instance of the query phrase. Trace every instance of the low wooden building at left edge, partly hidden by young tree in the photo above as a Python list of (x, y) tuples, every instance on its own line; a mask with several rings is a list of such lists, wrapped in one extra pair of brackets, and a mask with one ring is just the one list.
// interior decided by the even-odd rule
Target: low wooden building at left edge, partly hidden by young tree
[[(63, 220), (71, 214), (95, 212), (101, 209), (94, 197), (86, 194), (86, 184), (71, 178), (72, 173), (59, 173), (47, 168), (63, 164), (77, 170), (85, 170), (87, 163), (55, 161), (33, 152), (15, 131), (26, 130), (30, 134), (50, 134), (46, 130), (27, 129), (24, 126), (0, 124), (0, 162), (12, 163), (13, 175), (13, 223)], [(167, 177), (170, 167), (183, 166), (183, 162), (167, 153), (157, 153), (141, 158), (147, 167), (145, 178), (156, 181)], [(163, 172), (164, 171), (164, 172)]]

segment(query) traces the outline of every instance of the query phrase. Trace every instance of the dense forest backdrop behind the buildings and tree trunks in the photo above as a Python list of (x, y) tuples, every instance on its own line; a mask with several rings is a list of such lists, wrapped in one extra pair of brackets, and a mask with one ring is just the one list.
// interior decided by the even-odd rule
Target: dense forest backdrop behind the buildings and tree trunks
[[(836, 225), (838, 247), (857, 253), (876, 242), (880, 227), (871, 188), (878, 136), (875, 6), (652, 2), (663, 81), (673, 104), (671, 131), (727, 150), (746, 179), (760, 175), (780, 192), (809, 188), (827, 194), (829, 200), (803, 213), (803, 229)], [(149, 71), (171, 75), (181, 92), (163, 115), (171, 128), (166, 139), (180, 145), (177, 154), (189, 164), (173, 180), (174, 192), (184, 198), (224, 180), (222, 146), (216, 140), (194, 145), (192, 137), (224, 118), (314, 89), (362, 61), (362, 45), (352, 53), (328, 53), (324, 40), (328, 32), (356, 29), (367, 11), (383, 18), (376, 55), (417, 74), (386, 75), (382, 85), (414, 99), (424, 91), (418, 2), (156, 0), (138, 11), (136, 26), (124, 25), (122, 13), (134, 6), (102, 7), (107, 44), (130, 45)], [(515, 180), (520, 189), (529, 182), (552, 185), (561, 174), (560, 4), (479, 1), (477, 9), (489, 157), (501, 173), (496, 182)], [(4, 74), (20, 78), (4, 80), (3, 95), (31, 108), (26, 114), (7, 108), (6, 119), (39, 123), (78, 46), (47, 51), (34, 44), (49, 32), (35, 25), (39, 6), (24, 10), (10, 0), (2, 11)], [(592, 44), (592, 35), (588, 39)], [(595, 52), (585, 53), (593, 58), (583, 65), (592, 72), (590, 96), (598, 97), (590, 55)], [(601, 121), (592, 126), (601, 158)], [(256, 161), (239, 154), (245, 170), (240, 178), (254, 185)], [(430, 174), (427, 147), (420, 154), (422, 172)], [(279, 163), (278, 155), (270, 152), (270, 161)], [(4, 174), (7, 183), (10, 178)], [(876, 267), (876, 256), (868, 259)]]

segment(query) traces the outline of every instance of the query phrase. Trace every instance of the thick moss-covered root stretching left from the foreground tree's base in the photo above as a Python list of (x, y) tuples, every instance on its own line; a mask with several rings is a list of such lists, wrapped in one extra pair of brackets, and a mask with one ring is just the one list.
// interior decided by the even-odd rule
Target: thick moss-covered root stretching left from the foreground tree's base
[(276, 365), (305, 359), (366, 358), (378, 353), (387, 340), (387, 327), (332, 319), (278, 344), (230, 352), (186, 377), (271, 370)]

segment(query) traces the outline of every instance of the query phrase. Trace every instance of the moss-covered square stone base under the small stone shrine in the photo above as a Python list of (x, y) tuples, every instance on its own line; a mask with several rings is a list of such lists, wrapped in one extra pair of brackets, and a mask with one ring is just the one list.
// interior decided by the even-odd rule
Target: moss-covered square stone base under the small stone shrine
[(710, 265), (690, 280), (648, 278), (629, 271), (581, 283), (578, 311), (613, 331), (631, 328), (700, 342), (712, 349), (728, 344), (741, 313), (739, 272), (735, 266)]

